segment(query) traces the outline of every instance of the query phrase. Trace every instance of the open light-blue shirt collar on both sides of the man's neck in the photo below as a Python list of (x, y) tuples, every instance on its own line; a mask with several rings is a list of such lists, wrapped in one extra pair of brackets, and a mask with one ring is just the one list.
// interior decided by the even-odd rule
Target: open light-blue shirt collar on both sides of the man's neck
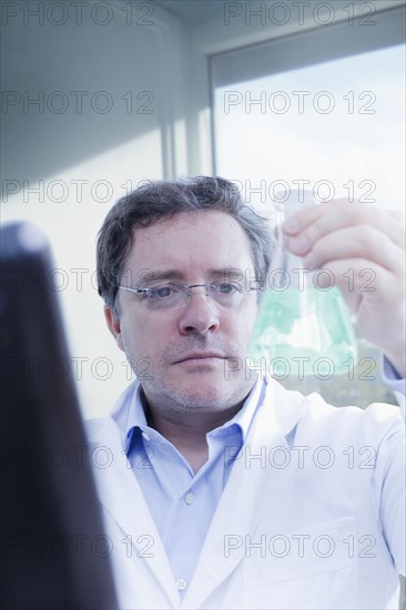
[[(232, 419), (211, 430), (209, 435), (211, 436), (226, 436), (231, 431), (235, 430), (235, 427), (238, 427), (242, 435), (242, 440), (245, 443), (247, 434), (250, 431), (254, 415), (262, 403), (264, 393), (265, 393), (266, 382), (263, 379), (257, 379), (254, 387), (246, 397), (243, 407), (234, 415)], [(120, 421), (118, 420), (119, 413), (115, 415), (116, 423), (122, 431), (122, 446), (126, 455), (129, 455), (131, 440), (135, 428), (141, 429), (141, 431), (151, 430), (149, 428), (145, 411), (144, 411), (144, 397), (141, 384), (136, 384), (134, 390), (128, 395), (130, 399), (129, 408), (125, 409), (128, 417), (125, 418), (124, 413), (120, 409)], [(155, 434), (158, 434), (155, 431)]]

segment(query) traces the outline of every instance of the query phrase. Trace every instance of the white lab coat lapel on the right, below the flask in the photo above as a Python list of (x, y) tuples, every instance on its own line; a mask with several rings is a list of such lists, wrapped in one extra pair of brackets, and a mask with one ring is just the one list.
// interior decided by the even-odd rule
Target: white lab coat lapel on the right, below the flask
[(191, 587), (182, 603), (183, 609), (200, 608), (224, 582), (245, 553), (244, 543), (238, 548), (236, 545), (245, 541), (245, 536), (255, 530), (262, 516), (272, 506), (275, 488), (270, 468), (250, 468), (248, 456), (261, 456), (270, 447), (285, 447), (290, 450), (286, 436), (297, 424), (303, 409), (303, 397), (297, 394), (292, 401), (292, 396), (290, 400), (286, 396), (287, 393), (278, 384), (273, 380), (267, 384), (253, 428), (242, 448), (241, 457), (233, 466), (214, 514)]

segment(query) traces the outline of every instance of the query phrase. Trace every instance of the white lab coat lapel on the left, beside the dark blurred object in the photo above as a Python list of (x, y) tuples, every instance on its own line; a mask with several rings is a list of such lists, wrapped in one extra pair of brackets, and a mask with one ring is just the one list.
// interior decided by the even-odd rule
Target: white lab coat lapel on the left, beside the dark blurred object
[[(153, 557), (146, 560), (148, 566), (156, 579), (156, 587), (160, 586), (171, 604), (177, 607), (180, 596), (168, 556), (142, 490), (122, 449), (118, 427), (110, 417), (105, 419), (98, 445), (108, 449), (111, 461), (108, 468), (94, 468), (99, 499), (123, 530), (123, 538), (125, 537), (126, 541), (131, 540), (136, 547), (139, 557), (143, 555), (145, 535), (152, 537)], [(119, 540), (114, 540), (114, 545), (119, 545)]]

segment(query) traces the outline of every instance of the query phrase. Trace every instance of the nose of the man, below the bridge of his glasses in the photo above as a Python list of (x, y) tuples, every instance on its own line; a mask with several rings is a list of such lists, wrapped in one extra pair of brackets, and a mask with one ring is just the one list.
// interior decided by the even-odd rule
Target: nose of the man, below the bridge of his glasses
[(220, 326), (217, 306), (206, 296), (203, 286), (192, 289), (189, 303), (181, 312), (179, 328), (182, 335), (215, 333)]

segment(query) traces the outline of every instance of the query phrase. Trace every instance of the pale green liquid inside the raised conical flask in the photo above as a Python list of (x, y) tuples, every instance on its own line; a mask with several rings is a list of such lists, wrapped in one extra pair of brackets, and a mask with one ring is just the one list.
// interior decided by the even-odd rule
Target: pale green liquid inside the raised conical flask
[(248, 357), (255, 366), (265, 358), (266, 370), (276, 375), (347, 373), (356, 347), (338, 288), (265, 291)]

